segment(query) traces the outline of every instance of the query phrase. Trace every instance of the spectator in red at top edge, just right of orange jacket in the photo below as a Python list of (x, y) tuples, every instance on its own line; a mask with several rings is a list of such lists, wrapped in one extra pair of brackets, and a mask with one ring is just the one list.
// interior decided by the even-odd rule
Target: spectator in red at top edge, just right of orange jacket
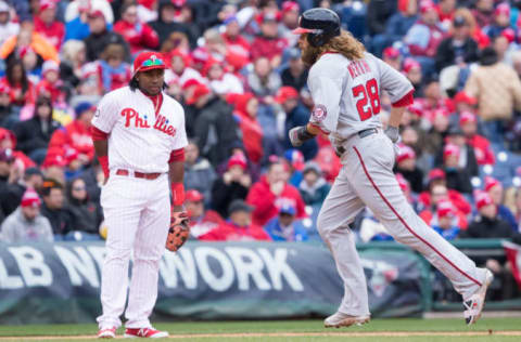
[(56, 21), (55, 1), (40, 0), (40, 9), (35, 16), (35, 30), (42, 35), (56, 51), (60, 51), (65, 37), (65, 25)]

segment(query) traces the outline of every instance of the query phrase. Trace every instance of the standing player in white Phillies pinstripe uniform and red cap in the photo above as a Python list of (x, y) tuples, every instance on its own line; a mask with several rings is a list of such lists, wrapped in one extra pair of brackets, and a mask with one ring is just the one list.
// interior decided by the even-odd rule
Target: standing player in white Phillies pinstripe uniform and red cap
[[(185, 111), (163, 93), (164, 61), (142, 52), (128, 87), (107, 93), (92, 119), (92, 136), (105, 173), (101, 192), (109, 228), (102, 271), (99, 338), (114, 338), (122, 325), (134, 252), (125, 337), (163, 338), (149, 316), (157, 298), (158, 263), (175, 212), (183, 201)], [(175, 213), (174, 213), (175, 214)]]

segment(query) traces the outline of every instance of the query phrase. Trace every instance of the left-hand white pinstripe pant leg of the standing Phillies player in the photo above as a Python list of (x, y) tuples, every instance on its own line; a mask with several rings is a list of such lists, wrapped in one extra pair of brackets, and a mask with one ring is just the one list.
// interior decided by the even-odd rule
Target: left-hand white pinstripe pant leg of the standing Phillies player
[[(128, 288), (128, 263), (140, 219), (142, 203), (134, 198), (139, 193), (134, 181), (111, 176), (102, 189), (101, 205), (107, 226), (106, 255), (101, 275), (100, 329), (118, 328), (125, 310)], [(125, 194), (125, 196), (122, 196)], [(130, 196), (127, 196), (130, 195)]]

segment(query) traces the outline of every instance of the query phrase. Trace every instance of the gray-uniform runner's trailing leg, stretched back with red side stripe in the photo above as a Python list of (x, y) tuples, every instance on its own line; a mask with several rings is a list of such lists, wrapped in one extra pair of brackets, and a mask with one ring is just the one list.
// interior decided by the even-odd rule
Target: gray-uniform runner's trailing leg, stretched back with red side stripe
[(389, 233), (422, 253), (450, 279), (463, 300), (476, 293), (486, 281), (486, 269), (478, 268), (415, 213), (392, 172), (394, 152), (389, 139), (383, 134), (360, 139), (347, 159), (353, 186)]

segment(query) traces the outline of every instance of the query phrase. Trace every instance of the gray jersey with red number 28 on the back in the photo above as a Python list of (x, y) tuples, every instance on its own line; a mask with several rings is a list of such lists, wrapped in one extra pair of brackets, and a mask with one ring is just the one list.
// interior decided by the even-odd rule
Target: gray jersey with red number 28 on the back
[(323, 54), (310, 68), (307, 86), (315, 102), (309, 122), (335, 141), (382, 127), (378, 117), (382, 90), (393, 104), (412, 91), (405, 76), (367, 52), (356, 61)]

